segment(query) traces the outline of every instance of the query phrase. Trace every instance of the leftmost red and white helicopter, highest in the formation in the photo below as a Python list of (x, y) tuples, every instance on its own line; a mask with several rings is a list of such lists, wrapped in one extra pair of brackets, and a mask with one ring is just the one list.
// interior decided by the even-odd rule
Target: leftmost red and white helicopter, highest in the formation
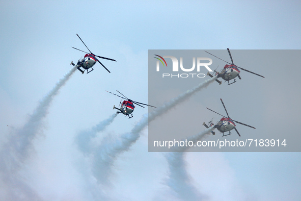
[[(76, 34), (77, 35), (77, 34)], [(77, 35), (78, 36), (78, 35)], [(78, 36), (78, 38), (81, 40), (81, 38)], [(81, 40), (81, 42), (84, 43), (83, 40)], [(87, 45), (84, 43), (84, 45), (87, 47)], [(75, 47), (72, 47), (74, 49), (77, 49)], [(100, 58), (100, 59), (107, 59), (107, 60), (111, 60), (111, 61), (116, 61), (114, 59), (110, 59), (110, 58), (106, 58), (106, 57), (100, 57), (100, 56), (97, 56), (97, 55), (94, 55), (90, 49), (87, 47), (88, 51), (90, 53), (87, 53), (85, 51), (82, 51), (80, 49), (77, 49), (78, 51), (81, 51), (81, 52), (84, 52), (84, 53), (87, 53), (84, 57), (84, 59), (79, 59), (77, 64), (76, 64), (76, 68), (77, 70), (79, 70), (82, 74), (84, 74), (85, 70), (87, 70), (87, 73), (91, 72), (93, 69), (93, 66), (96, 62), (100, 63), (108, 72), (110, 72), (110, 70), (108, 70), (96, 57)], [(75, 64), (73, 63), (73, 61), (71, 61), (70, 65), (73, 65), (75, 66)], [(81, 68), (84, 68), (84, 70), (82, 70)], [(89, 71), (89, 68), (91, 68), (91, 70)], [(110, 72), (111, 73), (111, 72)]]

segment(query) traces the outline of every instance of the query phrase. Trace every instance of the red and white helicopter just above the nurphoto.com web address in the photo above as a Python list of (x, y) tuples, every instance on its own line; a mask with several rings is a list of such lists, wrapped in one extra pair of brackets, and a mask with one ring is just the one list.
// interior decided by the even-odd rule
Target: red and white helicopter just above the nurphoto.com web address
[[(239, 121), (236, 121), (236, 120), (231, 119), (231, 118), (229, 117), (229, 114), (228, 114), (228, 112), (227, 112), (227, 109), (226, 109), (226, 107), (225, 107), (225, 104), (224, 104), (222, 98), (221, 98), (221, 102), (222, 102), (222, 104), (223, 104), (223, 106), (224, 106), (224, 109), (225, 109), (225, 111), (226, 111), (228, 117), (226, 117), (226, 116), (224, 116), (224, 115), (221, 115), (221, 114), (215, 112), (216, 114), (219, 114), (219, 115), (223, 116), (223, 118), (221, 118), (220, 121), (217, 121), (217, 123), (216, 123), (215, 125), (212, 123), (213, 118), (211, 119), (211, 121), (209, 121), (209, 123), (208, 123), (209, 126), (204, 122), (203, 125), (204, 125), (207, 129), (208, 129), (209, 127), (214, 126), (214, 129), (217, 129), (218, 131), (220, 131), (221, 133), (223, 133), (223, 137), (224, 137), (224, 136), (227, 136), (227, 135), (231, 135), (231, 132), (230, 132), (230, 131), (231, 131), (232, 129), (234, 129), (234, 130), (236, 131), (236, 133), (238, 134), (238, 136), (240, 137), (240, 134), (238, 133), (237, 129), (235, 128), (236, 125), (235, 125), (234, 122), (255, 129), (255, 128), (252, 127), (251, 125), (248, 125), (248, 124), (245, 124), (245, 123), (241, 123), (241, 122), (239, 122)], [(212, 112), (214, 112), (213, 110), (211, 110), (211, 109), (209, 109), (209, 108), (207, 108), (207, 109), (210, 110), (210, 111), (212, 111)], [(224, 133), (225, 133), (225, 132), (228, 132), (228, 131), (229, 131), (229, 134), (225, 135)], [(213, 131), (211, 131), (211, 133), (212, 133), (213, 135), (215, 134)]]

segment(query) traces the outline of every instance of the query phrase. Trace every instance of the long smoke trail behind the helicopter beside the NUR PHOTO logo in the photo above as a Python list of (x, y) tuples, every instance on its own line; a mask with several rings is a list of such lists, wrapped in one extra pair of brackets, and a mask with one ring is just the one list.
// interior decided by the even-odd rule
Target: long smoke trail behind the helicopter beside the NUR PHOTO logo
[(153, 121), (157, 116), (166, 113), (177, 104), (182, 103), (194, 93), (206, 88), (210, 83), (214, 82), (216, 77), (210, 78), (193, 89), (187, 90), (179, 96), (171, 99), (170, 102), (157, 108), (151, 113), (144, 115), (143, 118), (136, 123), (131, 132), (121, 135), (115, 141), (111, 138), (105, 138), (96, 150), (94, 155), (94, 165), (92, 167), (93, 174), (99, 183), (108, 184), (108, 177), (112, 171), (113, 163), (117, 157), (126, 152), (130, 146), (140, 137), (140, 132), (147, 127), (150, 121)]

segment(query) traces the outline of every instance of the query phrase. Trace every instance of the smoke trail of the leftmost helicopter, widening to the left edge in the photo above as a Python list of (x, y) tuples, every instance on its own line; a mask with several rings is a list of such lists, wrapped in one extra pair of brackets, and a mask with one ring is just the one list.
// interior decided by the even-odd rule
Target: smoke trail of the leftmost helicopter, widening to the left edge
[[(2, 200), (39, 200), (39, 196), (18, 175), (18, 170), (34, 149), (34, 140), (42, 134), (43, 119), (48, 114), (49, 106), (66, 82), (69, 80), (75, 67), (71, 68), (63, 78), (39, 102), (33, 114), (23, 128), (11, 133), (8, 142), (0, 150), (0, 185), (6, 192), (0, 197)], [(7, 192), (9, 191), (9, 192)], [(0, 195), (0, 196), (2, 196)]]

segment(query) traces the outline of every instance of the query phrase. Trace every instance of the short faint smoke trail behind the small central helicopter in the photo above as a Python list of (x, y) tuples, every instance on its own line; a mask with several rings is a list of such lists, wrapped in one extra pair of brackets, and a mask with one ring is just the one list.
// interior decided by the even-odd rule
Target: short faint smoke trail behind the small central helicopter
[(81, 131), (77, 134), (75, 138), (75, 143), (78, 146), (78, 149), (85, 155), (91, 153), (91, 139), (96, 137), (96, 134), (103, 131), (108, 125), (110, 125), (117, 113), (114, 113), (107, 119), (100, 121), (98, 124), (94, 125), (90, 130)]

